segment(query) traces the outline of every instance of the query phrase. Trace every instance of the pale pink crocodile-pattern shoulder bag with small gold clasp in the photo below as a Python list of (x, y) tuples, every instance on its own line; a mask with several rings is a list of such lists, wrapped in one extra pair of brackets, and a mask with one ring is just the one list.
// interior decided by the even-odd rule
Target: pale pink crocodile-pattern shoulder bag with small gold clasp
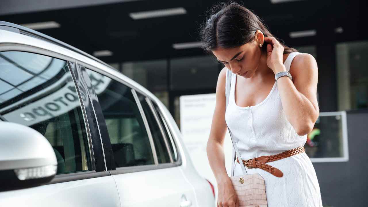
[(239, 207), (267, 207), (265, 180), (258, 173), (231, 176)]

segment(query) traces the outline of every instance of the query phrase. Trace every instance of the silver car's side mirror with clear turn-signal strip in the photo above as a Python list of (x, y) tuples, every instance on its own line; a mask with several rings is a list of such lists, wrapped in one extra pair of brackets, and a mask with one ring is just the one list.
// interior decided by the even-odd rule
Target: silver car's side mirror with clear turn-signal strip
[(56, 171), (56, 155), (42, 134), (0, 121), (0, 191), (43, 185)]

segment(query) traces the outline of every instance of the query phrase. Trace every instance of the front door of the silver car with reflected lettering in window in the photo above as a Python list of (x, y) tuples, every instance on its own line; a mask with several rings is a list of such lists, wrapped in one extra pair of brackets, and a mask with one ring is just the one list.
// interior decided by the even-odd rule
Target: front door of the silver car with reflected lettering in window
[(72, 64), (50, 54), (0, 52), (1, 118), (37, 130), (57, 158), (57, 175), (49, 184), (0, 192), (0, 206), (120, 206), (86, 106), (89, 95)]

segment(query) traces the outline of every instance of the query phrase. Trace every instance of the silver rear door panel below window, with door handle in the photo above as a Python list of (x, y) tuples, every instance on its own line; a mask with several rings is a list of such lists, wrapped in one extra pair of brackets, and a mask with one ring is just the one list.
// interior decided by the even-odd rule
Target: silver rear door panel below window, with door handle
[(121, 206), (180, 206), (182, 196), (197, 207), (191, 185), (179, 167), (112, 175), (120, 195)]

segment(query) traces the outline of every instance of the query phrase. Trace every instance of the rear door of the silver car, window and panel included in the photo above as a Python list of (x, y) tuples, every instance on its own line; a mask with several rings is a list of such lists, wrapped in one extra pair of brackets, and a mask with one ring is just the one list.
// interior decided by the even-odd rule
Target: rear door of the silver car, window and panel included
[(86, 70), (106, 123), (100, 128), (109, 134), (121, 206), (197, 206), (150, 99), (116, 76)]

